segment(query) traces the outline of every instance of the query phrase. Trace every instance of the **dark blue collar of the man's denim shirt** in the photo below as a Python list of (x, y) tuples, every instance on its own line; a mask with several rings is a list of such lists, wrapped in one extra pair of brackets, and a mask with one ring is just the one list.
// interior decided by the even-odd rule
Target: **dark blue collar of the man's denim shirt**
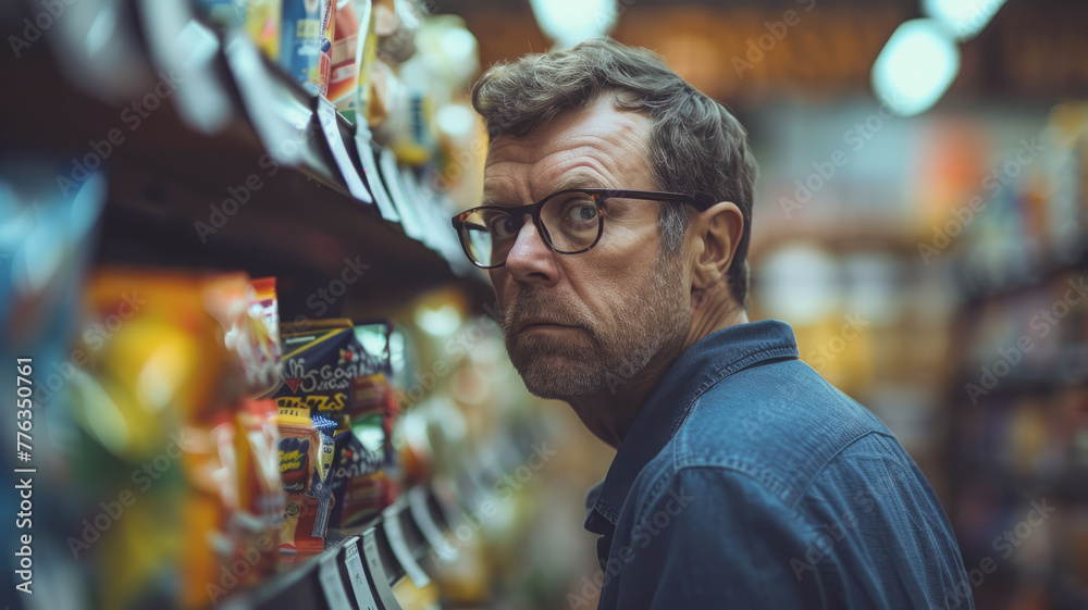
[(703, 393), (742, 369), (782, 358), (799, 358), (798, 341), (793, 328), (778, 320), (722, 328), (681, 353), (646, 398), (608, 475), (586, 497), (585, 528), (606, 534), (616, 527), (635, 477), (680, 430)]

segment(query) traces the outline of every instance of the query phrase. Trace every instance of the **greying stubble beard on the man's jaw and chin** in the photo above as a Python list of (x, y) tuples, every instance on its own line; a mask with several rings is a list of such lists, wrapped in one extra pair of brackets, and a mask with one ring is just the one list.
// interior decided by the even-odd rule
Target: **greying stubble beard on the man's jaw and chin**
[[(675, 358), (691, 324), (690, 296), (683, 290), (682, 257), (659, 257), (642, 286), (614, 310), (610, 332), (570, 311), (570, 302), (539, 286), (519, 292), (503, 315), (510, 361), (526, 387), (541, 398), (571, 401), (615, 394), (655, 358)], [(581, 336), (514, 335), (519, 321), (543, 316), (577, 326)]]

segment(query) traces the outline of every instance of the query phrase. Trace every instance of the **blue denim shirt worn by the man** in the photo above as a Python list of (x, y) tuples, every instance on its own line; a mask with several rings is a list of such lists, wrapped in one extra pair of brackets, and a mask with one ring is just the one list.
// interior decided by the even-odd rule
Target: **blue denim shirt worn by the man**
[(682, 353), (586, 501), (602, 609), (974, 608), (918, 466), (776, 320)]

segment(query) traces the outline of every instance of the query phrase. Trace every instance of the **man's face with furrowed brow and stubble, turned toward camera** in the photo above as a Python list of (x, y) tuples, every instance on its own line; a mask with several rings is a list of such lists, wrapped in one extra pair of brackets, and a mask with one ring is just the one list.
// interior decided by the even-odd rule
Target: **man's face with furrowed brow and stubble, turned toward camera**
[[(515, 207), (565, 188), (656, 190), (650, 127), (606, 96), (530, 138), (499, 137), (484, 199)], [(676, 357), (691, 323), (689, 284), (682, 257), (660, 256), (660, 206), (607, 200), (604, 234), (580, 254), (553, 251), (527, 222), (506, 265), (491, 270), (506, 348), (531, 393), (599, 396)]]

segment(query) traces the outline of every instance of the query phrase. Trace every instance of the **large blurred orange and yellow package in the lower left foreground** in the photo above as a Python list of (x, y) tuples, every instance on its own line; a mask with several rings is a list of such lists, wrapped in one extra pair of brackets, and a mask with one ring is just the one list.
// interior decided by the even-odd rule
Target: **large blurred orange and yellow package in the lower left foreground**
[(231, 539), (237, 495), (223, 460), (234, 457), (213, 431), (233, 416), (244, 378), (217, 320), (233, 307), (224, 285), (237, 279), (109, 269), (88, 285), (65, 404), (77, 456), (66, 493), (84, 506), (75, 523), (102, 521), (103, 489), (116, 498), (108, 531), (71, 541), (94, 558), (84, 564), (96, 567), (97, 606), (207, 606), (205, 584), (228, 559), (219, 543)]

